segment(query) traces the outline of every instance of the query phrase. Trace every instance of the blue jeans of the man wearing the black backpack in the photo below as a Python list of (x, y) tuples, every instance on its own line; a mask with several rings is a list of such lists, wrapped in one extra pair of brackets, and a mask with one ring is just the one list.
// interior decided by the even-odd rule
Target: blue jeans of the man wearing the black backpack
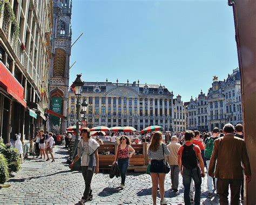
[(194, 180), (194, 188), (195, 188), (194, 204), (200, 205), (202, 178), (201, 178), (199, 167), (193, 168), (193, 169), (183, 168), (182, 176), (183, 176), (185, 205), (191, 205), (190, 184), (192, 179)]

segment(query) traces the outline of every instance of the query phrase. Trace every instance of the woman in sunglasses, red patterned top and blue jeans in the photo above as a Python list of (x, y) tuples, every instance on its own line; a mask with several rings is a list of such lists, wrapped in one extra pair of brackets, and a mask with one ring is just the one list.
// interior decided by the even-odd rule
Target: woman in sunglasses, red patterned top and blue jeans
[[(121, 186), (124, 187), (125, 185), (125, 178), (126, 178), (126, 172), (127, 168), (129, 166), (130, 158), (135, 153), (135, 150), (132, 148), (131, 140), (127, 136), (122, 136), (118, 140), (118, 148), (116, 151), (116, 156), (114, 158), (113, 164), (117, 162), (120, 174), (121, 174)], [(131, 152), (129, 154), (129, 152)]]

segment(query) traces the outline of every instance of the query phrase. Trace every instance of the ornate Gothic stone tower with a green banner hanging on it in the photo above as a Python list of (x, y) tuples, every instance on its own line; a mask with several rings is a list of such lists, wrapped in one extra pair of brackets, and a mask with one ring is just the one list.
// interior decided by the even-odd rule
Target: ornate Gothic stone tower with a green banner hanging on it
[[(69, 69), (71, 55), (72, 1), (53, 0), (52, 63), (50, 69), (49, 109), (67, 116)], [(49, 117), (50, 131), (65, 132), (68, 122), (54, 115)]]

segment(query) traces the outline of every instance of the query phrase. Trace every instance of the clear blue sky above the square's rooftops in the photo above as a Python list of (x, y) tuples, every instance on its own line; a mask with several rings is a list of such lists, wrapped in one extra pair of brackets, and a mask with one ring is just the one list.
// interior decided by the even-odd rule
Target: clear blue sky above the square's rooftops
[(70, 83), (160, 84), (183, 101), (238, 67), (233, 11), (216, 1), (73, 0)]

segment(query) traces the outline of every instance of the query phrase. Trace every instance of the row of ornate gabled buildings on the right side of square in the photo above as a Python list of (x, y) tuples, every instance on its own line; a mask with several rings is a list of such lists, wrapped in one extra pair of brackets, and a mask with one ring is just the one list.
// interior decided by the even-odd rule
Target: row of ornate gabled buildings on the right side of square
[(227, 80), (213, 81), (207, 96), (201, 91), (196, 100), (191, 98), (186, 106), (187, 128), (211, 131), (215, 126), (223, 129), (226, 123), (242, 123), (240, 80), (239, 68), (234, 69), (231, 75), (228, 74)]

